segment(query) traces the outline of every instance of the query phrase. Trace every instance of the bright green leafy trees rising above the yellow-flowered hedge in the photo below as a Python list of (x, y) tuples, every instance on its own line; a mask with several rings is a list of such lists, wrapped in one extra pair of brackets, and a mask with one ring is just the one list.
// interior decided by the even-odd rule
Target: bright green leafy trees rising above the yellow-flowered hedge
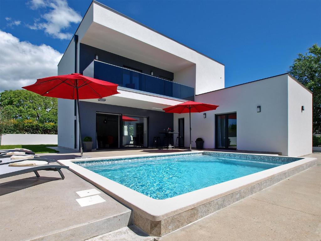
[(28, 90), (5, 90), (0, 93), (0, 108), (8, 119), (57, 123), (57, 99)]

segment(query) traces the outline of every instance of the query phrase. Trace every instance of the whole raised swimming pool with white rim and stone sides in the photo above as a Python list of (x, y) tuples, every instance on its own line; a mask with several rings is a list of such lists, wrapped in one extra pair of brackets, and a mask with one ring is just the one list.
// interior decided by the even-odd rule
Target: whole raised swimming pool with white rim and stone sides
[[(120, 152), (121, 153), (121, 152)], [(316, 158), (193, 151), (58, 160), (163, 236), (316, 165)]]

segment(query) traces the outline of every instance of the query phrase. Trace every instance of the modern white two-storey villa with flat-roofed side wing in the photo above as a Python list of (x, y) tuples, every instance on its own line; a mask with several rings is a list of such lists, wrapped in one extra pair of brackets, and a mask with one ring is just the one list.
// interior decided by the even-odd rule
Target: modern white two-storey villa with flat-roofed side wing
[[(224, 88), (224, 65), (117, 11), (93, 1), (60, 63), (73, 72), (119, 85), (120, 94), (80, 102), (82, 138), (93, 149), (152, 147), (174, 129), (189, 146), (188, 114), (163, 108), (187, 100), (219, 105), (192, 113), (192, 146), (275, 152), (312, 152), (312, 93), (285, 73)], [(58, 100), (58, 146), (79, 148), (75, 101)], [(122, 117), (123, 116), (123, 117)], [(123, 118), (130, 117), (129, 122)]]

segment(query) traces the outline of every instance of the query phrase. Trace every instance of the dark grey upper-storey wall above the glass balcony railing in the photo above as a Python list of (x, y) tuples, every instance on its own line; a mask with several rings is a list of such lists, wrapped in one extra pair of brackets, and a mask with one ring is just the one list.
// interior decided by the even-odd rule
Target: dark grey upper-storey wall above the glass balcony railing
[(116, 65), (119, 67), (131, 67), (137, 70), (141, 70), (142, 73), (150, 75), (153, 71), (153, 76), (165, 77), (173, 80), (174, 74), (172, 72), (156, 68), (141, 62), (135, 61), (133, 59), (125, 58), (123, 56), (107, 52), (102, 49), (97, 49), (86, 44), (80, 44), (80, 54), (79, 54), (79, 72), (82, 71), (94, 60), (95, 56), (99, 56), (99, 61), (108, 64)]

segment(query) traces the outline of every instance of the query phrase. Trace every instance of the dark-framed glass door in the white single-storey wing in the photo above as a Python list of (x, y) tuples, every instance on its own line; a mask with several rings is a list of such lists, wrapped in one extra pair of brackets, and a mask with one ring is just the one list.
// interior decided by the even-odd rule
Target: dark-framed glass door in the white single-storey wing
[(236, 149), (236, 113), (215, 116), (215, 148)]

